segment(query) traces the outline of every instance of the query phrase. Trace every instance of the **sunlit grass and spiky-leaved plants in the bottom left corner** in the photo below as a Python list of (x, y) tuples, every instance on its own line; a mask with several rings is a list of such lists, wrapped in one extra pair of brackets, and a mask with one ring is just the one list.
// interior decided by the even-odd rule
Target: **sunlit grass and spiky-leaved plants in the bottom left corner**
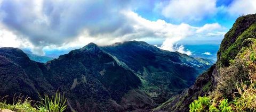
[(64, 94), (60, 94), (59, 91), (55, 93), (55, 96), (49, 97), (46, 94), (41, 97), (41, 101), (31, 100), (29, 97), (23, 96), (13, 97), (13, 103), (8, 104), (6, 97), (3, 97), (0, 101), (0, 109), (9, 109), (17, 112), (62, 112), (67, 108), (66, 98)]

